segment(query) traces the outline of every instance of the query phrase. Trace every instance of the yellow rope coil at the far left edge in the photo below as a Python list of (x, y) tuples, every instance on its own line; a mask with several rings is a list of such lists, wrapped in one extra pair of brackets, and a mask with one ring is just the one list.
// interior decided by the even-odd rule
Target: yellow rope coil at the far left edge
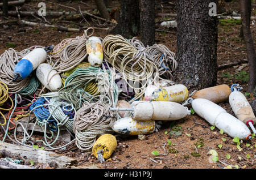
[[(0, 81), (0, 106), (2, 106), (3, 104), (5, 104), (5, 102), (8, 100), (8, 98), (11, 101), (11, 108), (9, 109), (5, 109), (5, 108), (1, 108), (0, 110), (11, 110), (13, 109), (13, 100), (11, 99), (11, 97), (8, 95), (9, 89), (7, 87), (7, 85), (3, 82)], [(0, 123), (1, 126), (5, 126), (6, 124), (6, 118), (5, 115), (3, 115), (2, 111), (0, 111), (1, 116), (3, 117), (3, 120), (5, 121), (3, 124)]]

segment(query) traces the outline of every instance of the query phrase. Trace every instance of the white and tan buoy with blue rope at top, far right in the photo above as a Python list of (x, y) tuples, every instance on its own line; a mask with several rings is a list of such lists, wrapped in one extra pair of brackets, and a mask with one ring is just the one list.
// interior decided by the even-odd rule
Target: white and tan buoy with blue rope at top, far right
[(232, 85), (232, 93), (229, 95), (229, 104), (234, 114), (236, 114), (236, 117), (247, 126), (250, 126), (253, 133), (256, 134), (256, 130), (253, 126), (256, 122), (253, 109), (251, 108), (251, 105), (247, 101), (245, 95), (239, 91), (239, 88), (235, 88), (234, 86), (237, 87), (238, 84)]

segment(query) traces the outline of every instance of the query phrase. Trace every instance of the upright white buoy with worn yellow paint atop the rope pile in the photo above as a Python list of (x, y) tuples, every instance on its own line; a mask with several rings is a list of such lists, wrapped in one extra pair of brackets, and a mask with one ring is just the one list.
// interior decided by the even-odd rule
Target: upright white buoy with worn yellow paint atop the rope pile
[(103, 50), (100, 38), (89, 37), (86, 41), (86, 52), (89, 54), (88, 61), (91, 66), (99, 67), (103, 61)]

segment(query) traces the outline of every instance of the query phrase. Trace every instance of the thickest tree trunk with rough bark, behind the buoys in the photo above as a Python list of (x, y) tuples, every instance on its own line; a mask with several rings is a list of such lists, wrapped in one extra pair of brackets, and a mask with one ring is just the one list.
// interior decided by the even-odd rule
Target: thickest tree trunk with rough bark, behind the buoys
[(191, 89), (216, 85), (217, 18), (209, 16), (212, 0), (177, 1), (176, 82)]

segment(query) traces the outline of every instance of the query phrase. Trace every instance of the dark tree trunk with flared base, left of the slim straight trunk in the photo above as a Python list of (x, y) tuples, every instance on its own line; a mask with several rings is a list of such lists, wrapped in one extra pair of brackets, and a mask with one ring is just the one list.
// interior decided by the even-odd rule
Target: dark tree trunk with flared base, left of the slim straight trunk
[(139, 0), (122, 0), (117, 26), (112, 33), (132, 38), (139, 33)]

